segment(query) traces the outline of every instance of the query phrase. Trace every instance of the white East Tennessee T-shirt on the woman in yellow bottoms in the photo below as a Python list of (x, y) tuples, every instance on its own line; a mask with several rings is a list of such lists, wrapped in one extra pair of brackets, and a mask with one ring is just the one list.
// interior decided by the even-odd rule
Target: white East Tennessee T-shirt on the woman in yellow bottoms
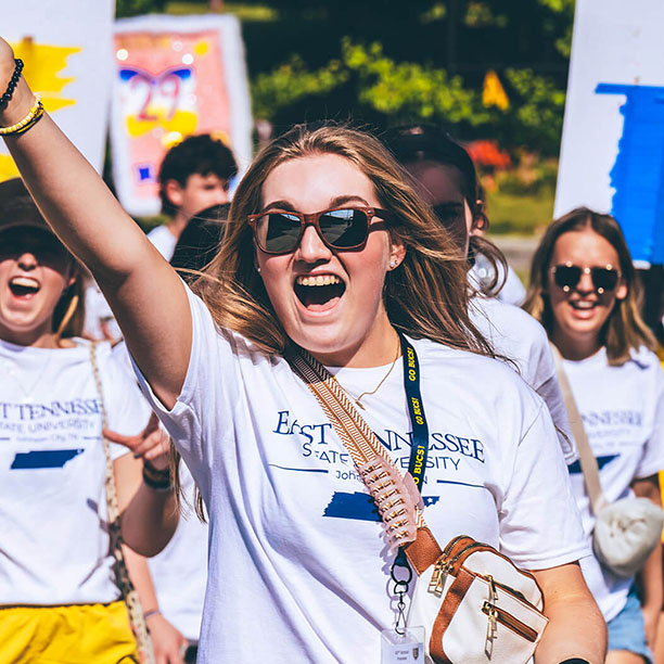
[[(119, 592), (106, 533), (101, 403), (88, 342), (0, 341), (0, 605), (110, 602)], [(97, 348), (111, 429), (136, 434), (148, 405)], [(111, 445), (113, 459), (128, 450)]]

